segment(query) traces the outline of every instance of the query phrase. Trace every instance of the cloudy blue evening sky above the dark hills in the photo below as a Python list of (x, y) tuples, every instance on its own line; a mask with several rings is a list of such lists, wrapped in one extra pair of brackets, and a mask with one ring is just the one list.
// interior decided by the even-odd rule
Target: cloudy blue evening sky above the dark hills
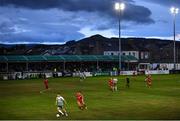
[[(57, 44), (94, 34), (118, 37), (118, 0), (0, 0), (0, 43)], [(124, 0), (123, 37), (172, 39), (180, 0)], [(176, 16), (180, 40), (180, 13)]]

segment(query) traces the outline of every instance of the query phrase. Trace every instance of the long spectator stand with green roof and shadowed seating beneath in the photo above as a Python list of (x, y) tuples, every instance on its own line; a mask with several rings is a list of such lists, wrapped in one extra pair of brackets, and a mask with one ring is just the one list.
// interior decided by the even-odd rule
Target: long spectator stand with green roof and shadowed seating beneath
[[(121, 60), (124, 69), (128, 70), (138, 64), (138, 59), (130, 55), (122, 55)], [(56, 77), (73, 75), (78, 71), (100, 75), (118, 68), (118, 62), (118, 56), (109, 55), (0, 56), (0, 78), (34, 78), (44, 74)], [(130, 67), (130, 64), (133, 66)]]

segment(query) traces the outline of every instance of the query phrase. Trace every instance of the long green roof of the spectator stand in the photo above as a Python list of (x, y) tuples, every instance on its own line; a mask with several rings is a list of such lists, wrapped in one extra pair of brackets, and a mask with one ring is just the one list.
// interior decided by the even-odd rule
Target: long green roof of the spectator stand
[[(138, 59), (131, 55), (122, 55), (122, 62), (137, 62)], [(118, 62), (118, 56), (108, 55), (57, 55), (57, 56), (0, 56), (0, 62)]]

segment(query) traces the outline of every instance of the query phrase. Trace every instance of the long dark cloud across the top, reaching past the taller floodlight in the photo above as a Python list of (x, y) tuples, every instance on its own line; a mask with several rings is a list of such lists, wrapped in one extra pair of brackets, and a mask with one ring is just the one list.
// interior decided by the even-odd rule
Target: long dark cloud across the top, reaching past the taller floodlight
[[(65, 11), (99, 12), (104, 16), (115, 18), (114, 3), (117, 0), (0, 0), (0, 6), (13, 5), (29, 9), (58, 8)], [(122, 1), (122, 0), (121, 0)], [(127, 5), (123, 19), (137, 23), (154, 23), (150, 18), (151, 11), (143, 6), (135, 5), (133, 0), (123, 0)]]

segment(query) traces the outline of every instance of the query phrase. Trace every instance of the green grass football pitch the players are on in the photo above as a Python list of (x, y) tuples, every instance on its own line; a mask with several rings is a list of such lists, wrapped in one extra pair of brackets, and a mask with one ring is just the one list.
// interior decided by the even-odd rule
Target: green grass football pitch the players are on
[[(50, 78), (50, 90), (42, 79), (0, 81), (0, 119), (80, 120), (80, 119), (180, 119), (180, 75), (152, 75), (153, 86), (147, 88), (145, 76), (119, 76), (118, 91), (108, 87), (110, 77)], [(75, 93), (82, 91), (87, 110), (76, 104)], [(68, 117), (56, 117), (56, 95), (67, 101)]]

